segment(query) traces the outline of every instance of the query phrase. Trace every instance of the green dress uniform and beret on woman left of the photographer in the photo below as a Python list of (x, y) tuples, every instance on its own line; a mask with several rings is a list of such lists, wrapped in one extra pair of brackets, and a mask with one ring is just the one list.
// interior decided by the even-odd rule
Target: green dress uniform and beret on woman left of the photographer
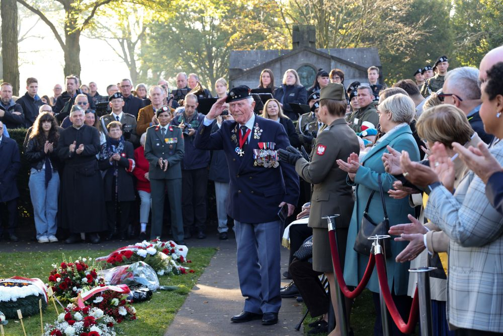
[[(162, 112), (163, 106), (159, 112)], [(164, 128), (164, 130), (162, 130)], [(165, 135), (163, 135), (165, 133)], [(162, 234), (162, 216), (164, 197), (167, 191), (170, 200), (171, 229), (176, 242), (183, 242), (184, 228), (182, 220), (182, 168), (184, 139), (182, 130), (167, 124), (164, 127), (155, 125), (147, 128), (145, 138), (145, 158), (149, 162), (148, 177), (150, 179), (152, 198), (152, 230), (150, 238)], [(159, 166), (159, 158), (167, 160), (166, 171)]]

